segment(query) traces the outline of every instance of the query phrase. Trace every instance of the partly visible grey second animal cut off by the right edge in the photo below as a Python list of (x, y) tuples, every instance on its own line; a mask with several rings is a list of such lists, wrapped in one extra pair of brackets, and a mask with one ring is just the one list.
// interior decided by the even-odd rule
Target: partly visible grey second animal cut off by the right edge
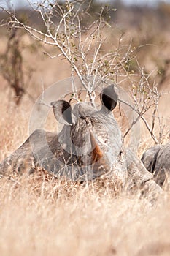
[(162, 187), (170, 178), (170, 143), (148, 148), (142, 155), (142, 162), (153, 174), (155, 182)]

